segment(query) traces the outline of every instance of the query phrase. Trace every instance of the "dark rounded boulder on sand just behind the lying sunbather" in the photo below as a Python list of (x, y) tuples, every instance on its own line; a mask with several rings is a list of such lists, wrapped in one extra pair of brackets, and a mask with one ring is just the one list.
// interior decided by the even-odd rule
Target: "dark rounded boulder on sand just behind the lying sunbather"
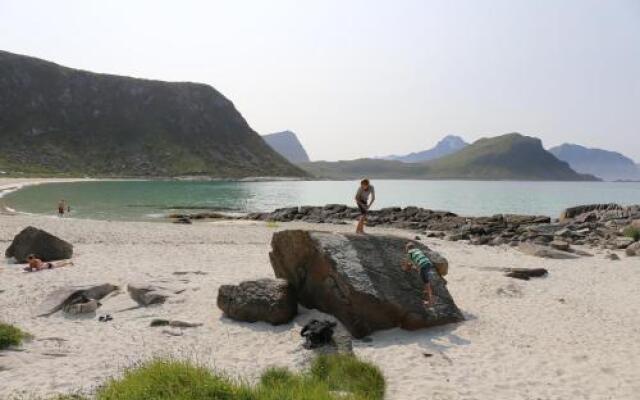
[(35, 254), (43, 261), (64, 260), (73, 255), (73, 246), (48, 232), (29, 226), (13, 238), (5, 256), (24, 263), (29, 254)]

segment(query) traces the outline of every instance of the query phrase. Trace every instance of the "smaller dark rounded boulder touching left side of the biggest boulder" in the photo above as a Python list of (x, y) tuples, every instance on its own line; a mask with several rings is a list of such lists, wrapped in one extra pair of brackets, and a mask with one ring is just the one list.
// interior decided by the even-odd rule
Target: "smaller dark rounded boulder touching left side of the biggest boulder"
[(293, 288), (283, 279), (259, 279), (218, 289), (218, 308), (227, 317), (246, 322), (286, 324), (298, 312)]

